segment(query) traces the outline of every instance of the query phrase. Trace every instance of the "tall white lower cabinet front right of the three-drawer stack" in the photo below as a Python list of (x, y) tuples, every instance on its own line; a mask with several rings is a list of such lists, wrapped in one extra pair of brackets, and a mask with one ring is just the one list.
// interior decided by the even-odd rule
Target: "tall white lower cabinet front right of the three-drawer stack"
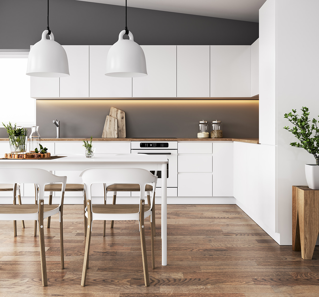
[(234, 144), (213, 143), (213, 197), (234, 196)]

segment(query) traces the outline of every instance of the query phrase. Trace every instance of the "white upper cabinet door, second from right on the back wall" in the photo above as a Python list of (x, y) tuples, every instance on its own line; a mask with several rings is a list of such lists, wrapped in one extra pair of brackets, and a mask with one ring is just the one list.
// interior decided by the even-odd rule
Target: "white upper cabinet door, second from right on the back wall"
[(209, 45), (177, 45), (177, 97), (209, 97)]

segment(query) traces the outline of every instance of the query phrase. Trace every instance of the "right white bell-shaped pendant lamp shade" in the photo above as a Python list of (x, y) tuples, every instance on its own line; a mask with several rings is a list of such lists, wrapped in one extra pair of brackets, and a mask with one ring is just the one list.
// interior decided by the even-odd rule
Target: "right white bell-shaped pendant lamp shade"
[(146, 61), (142, 48), (134, 42), (133, 34), (129, 31), (130, 39), (123, 39), (125, 30), (121, 31), (119, 40), (108, 51), (106, 58), (106, 74), (115, 77), (146, 76)]

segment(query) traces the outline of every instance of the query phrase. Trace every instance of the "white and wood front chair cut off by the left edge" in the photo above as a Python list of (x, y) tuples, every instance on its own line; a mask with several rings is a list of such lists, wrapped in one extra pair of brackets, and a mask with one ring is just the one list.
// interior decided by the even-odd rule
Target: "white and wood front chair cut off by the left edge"
[[(64, 269), (63, 255), (63, 198), (66, 176), (56, 176), (38, 168), (0, 168), (0, 180), (6, 184), (13, 182), (37, 184), (39, 187), (39, 204), (0, 205), (0, 220), (35, 220), (40, 226), (40, 255), (42, 285), (48, 285), (47, 266), (45, 259), (43, 219), (59, 213), (60, 216), (60, 249), (61, 269)], [(44, 205), (44, 187), (49, 183), (62, 183), (59, 205)]]

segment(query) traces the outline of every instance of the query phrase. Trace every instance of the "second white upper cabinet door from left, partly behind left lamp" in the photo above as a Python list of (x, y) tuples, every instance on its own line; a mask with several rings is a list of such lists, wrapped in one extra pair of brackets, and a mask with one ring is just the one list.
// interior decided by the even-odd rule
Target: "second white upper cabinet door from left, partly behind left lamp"
[(60, 77), (60, 97), (89, 97), (89, 46), (63, 45), (68, 56), (70, 76)]

